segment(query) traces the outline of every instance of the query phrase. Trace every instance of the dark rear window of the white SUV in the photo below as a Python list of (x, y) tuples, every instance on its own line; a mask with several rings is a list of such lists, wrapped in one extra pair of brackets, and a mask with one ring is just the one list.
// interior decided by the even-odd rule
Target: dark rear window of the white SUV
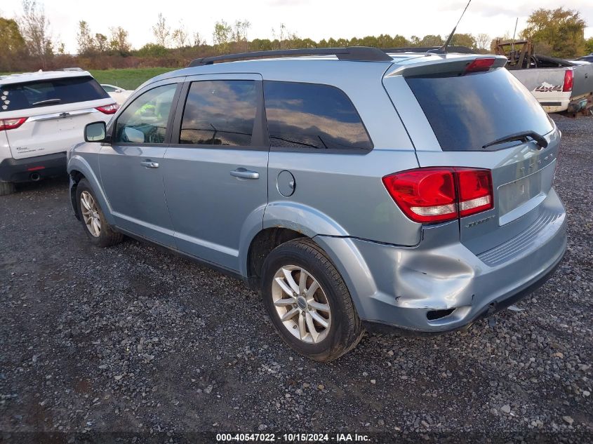
[(1, 111), (15, 111), (105, 99), (109, 94), (90, 76), (48, 79), (0, 86)]

